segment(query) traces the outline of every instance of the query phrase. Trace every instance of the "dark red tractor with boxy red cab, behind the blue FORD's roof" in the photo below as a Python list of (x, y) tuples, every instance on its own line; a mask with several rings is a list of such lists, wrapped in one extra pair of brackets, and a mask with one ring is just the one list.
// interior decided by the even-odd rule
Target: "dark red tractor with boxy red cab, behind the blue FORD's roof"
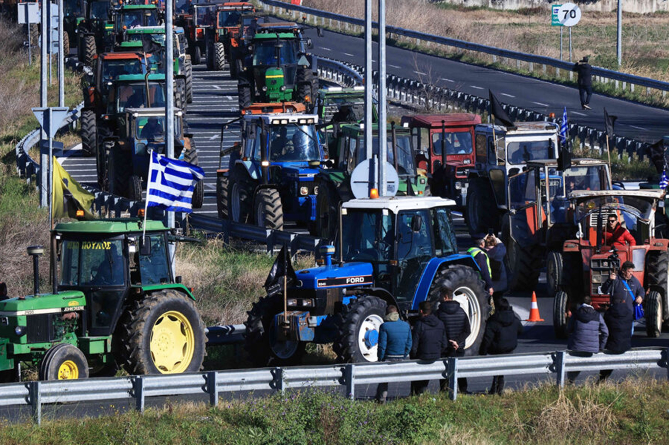
[(417, 151), (417, 166), (432, 178), (433, 195), (455, 200), (464, 208), (467, 199), (467, 176), (474, 165), (474, 126), (481, 123), (478, 114), (419, 114), (405, 116)]

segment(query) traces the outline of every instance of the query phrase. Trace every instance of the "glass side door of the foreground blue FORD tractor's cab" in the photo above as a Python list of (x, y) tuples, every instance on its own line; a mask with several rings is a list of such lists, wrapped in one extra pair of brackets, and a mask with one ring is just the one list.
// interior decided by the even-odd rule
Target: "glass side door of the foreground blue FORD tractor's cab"
[(411, 303), (423, 270), (434, 257), (434, 233), (429, 210), (405, 210), (397, 215), (397, 267), (393, 295), (398, 302)]

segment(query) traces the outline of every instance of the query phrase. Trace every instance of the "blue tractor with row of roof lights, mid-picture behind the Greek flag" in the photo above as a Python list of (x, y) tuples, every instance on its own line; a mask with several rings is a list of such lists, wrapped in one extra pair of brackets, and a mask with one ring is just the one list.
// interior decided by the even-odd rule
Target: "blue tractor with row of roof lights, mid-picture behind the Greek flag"
[(294, 102), (256, 104), (243, 113), (242, 143), (230, 150), (229, 168), (216, 173), (219, 217), (276, 230), (286, 220), (313, 228), (314, 176), (325, 160), (318, 116)]

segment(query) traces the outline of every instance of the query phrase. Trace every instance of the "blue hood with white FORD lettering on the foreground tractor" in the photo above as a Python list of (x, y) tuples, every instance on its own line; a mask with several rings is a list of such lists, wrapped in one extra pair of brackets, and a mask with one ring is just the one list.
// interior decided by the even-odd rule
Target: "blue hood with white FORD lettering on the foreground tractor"
[(372, 274), (370, 263), (321, 266), (296, 273), (297, 279), (302, 282), (302, 289), (369, 286), (373, 284)]

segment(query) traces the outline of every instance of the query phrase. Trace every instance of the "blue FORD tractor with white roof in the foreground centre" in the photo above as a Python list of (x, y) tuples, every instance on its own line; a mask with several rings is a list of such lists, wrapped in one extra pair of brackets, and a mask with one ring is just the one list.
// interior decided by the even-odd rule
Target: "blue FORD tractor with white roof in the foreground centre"
[[(468, 314), (466, 352), (476, 353), (490, 305), (472, 257), (458, 254), (452, 200), (399, 196), (341, 206), (336, 246), (323, 265), (268, 277), (268, 295), (246, 321), (246, 347), (258, 365), (298, 361), (306, 343), (333, 343), (340, 361), (377, 361), (379, 327), (387, 305), (413, 321), (421, 301), (435, 306), (443, 289)], [(275, 268), (273, 268), (274, 270)], [(276, 274), (274, 274), (276, 275)], [(284, 301), (284, 286), (286, 289)], [(284, 311), (284, 304), (287, 310)]]

